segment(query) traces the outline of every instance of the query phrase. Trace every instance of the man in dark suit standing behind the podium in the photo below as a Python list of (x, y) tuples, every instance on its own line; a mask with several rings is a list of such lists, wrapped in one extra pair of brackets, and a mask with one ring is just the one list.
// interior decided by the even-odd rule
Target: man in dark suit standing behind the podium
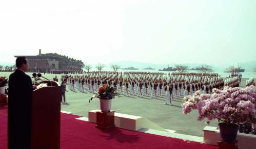
[(8, 90), (8, 148), (30, 148), (31, 139), (31, 78), (25, 57), (16, 59), (17, 69), (9, 77)]

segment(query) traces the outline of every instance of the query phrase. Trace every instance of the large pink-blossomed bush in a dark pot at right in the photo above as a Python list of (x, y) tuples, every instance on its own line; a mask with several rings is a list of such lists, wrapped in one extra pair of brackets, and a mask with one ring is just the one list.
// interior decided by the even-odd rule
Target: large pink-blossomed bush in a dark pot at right
[(237, 137), (239, 123), (255, 123), (255, 86), (246, 88), (227, 87), (213, 89), (213, 94), (201, 94), (196, 91), (192, 96), (185, 96), (182, 104), (183, 113), (198, 109), (198, 120), (218, 119), (220, 135), (223, 141), (233, 142)]

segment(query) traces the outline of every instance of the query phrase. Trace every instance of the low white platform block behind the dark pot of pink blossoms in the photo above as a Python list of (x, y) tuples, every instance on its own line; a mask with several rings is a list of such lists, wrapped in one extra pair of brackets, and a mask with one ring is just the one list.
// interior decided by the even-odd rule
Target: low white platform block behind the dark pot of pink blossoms
[[(204, 129), (204, 142), (209, 144), (218, 145), (220, 141), (220, 130), (216, 127), (206, 126)], [(237, 136), (238, 147), (246, 149), (255, 149), (256, 148), (256, 135), (238, 133)]]

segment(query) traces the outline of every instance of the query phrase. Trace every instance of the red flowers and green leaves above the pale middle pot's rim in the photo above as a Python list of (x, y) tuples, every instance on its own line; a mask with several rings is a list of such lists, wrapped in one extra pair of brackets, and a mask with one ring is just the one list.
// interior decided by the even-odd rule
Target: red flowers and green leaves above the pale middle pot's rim
[(90, 98), (89, 103), (94, 97), (100, 98), (101, 100), (112, 100), (113, 98), (115, 98), (116, 95), (119, 96), (119, 93), (116, 93), (115, 87), (103, 85), (99, 88), (99, 91), (97, 91), (96, 94)]

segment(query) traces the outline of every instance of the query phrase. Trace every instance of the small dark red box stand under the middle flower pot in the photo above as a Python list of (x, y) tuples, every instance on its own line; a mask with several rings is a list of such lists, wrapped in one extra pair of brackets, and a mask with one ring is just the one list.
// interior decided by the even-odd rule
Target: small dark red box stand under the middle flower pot
[(110, 112), (96, 111), (96, 128), (108, 129), (111, 127), (115, 127), (114, 112), (115, 111), (110, 111)]

